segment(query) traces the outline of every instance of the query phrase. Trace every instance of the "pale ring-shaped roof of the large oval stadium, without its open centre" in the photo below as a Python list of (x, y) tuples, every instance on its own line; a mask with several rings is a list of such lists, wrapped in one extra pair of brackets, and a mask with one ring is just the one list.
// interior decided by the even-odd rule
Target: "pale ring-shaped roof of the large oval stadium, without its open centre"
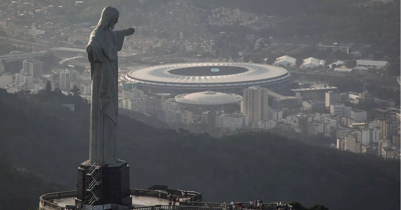
[[(247, 71), (233, 73), (231, 75), (188, 76), (172, 74), (173, 69), (194, 67), (242, 67)], [(196, 70), (194, 70), (196, 71)], [(174, 63), (144, 67), (130, 71), (125, 77), (128, 81), (134, 81), (144, 85), (167, 87), (225, 87), (239, 85), (267, 85), (286, 81), (291, 74), (281, 67), (257, 64), (257, 63), (232, 63), (232, 62), (208, 62), (208, 63)]]

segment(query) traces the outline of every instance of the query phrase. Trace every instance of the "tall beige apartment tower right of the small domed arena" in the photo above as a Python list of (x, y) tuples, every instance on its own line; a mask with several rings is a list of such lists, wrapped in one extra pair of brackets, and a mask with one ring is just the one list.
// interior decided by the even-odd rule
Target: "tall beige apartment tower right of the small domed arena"
[(249, 125), (268, 118), (268, 98), (267, 88), (252, 86), (243, 89), (241, 112), (249, 116)]

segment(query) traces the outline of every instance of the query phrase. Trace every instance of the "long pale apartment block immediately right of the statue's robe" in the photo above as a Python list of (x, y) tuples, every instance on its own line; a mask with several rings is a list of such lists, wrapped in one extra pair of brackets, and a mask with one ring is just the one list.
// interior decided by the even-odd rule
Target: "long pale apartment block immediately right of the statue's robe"
[(151, 114), (156, 113), (159, 109), (162, 109), (162, 100), (154, 99), (152, 97), (123, 99), (122, 108)]

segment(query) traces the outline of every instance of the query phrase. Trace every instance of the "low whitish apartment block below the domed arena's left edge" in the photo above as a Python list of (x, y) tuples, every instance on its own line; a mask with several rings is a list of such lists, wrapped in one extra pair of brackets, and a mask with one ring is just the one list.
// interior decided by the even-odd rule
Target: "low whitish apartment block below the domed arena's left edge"
[(158, 111), (158, 119), (167, 124), (170, 123), (184, 123), (192, 122), (192, 112), (180, 109), (165, 109)]

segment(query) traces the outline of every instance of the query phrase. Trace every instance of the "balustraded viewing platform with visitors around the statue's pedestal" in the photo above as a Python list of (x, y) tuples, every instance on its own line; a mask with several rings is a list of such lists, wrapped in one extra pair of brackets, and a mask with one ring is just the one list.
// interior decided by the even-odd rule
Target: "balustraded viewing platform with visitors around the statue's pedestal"
[[(158, 190), (157, 188), (158, 186), (153, 186), (149, 188), (150, 190), (131, 189), (133, 208), (135, 210), (232, 210), (233, 207), (233, 205), (226, 203), (202, 202), (202, 194), (198, 192), (186, 191), (188, 197), (183, 198), (183, 190)], [(172, 197), (180, 198), (180, 203), (176, 203), (175, 206), (170, 206), (168, 193), (170, 193)], [(40, 197), (39, 210), (69, 210), (72, 208), (66, 208), (66, 205), (75, 205), (75, 198), (77, 198), (77, 191), (45, 194)], [(254, 209), (249, 202), (240, 202), (240, 205), (243, 208)], [(276, 206), (276, 203), (263, 203), (261, 210), (275, 210)], [(107, 209), (109, 208), (93, 206), (92, 210)]]

